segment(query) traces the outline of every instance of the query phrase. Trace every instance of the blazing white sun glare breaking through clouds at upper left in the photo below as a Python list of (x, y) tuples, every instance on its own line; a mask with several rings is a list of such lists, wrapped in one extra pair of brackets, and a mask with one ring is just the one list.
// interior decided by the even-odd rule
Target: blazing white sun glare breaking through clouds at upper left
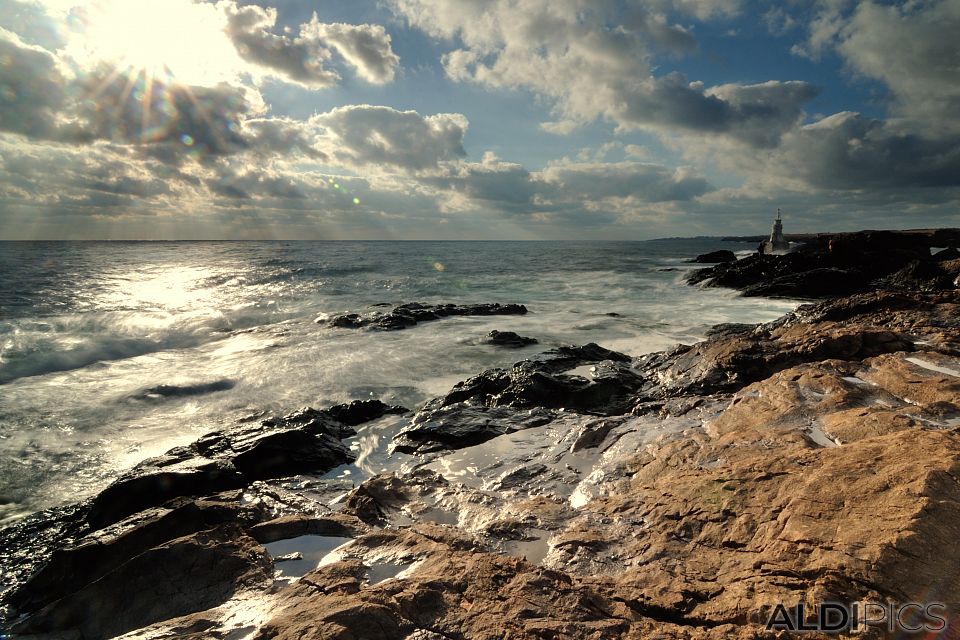
[(71, 42), (74, 58), (114, 64), (148, 77), (212, 85), (229, 80), (240, 60), (212, 4), (190, 0), (100, 0), (75, 9), (82, 27)]

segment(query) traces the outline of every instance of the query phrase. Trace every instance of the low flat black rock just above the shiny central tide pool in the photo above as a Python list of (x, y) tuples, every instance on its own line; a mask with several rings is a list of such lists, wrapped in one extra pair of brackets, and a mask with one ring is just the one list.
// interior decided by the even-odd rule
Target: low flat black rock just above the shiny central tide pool
[(472, 406), (464, 402), (421, 411), (393, 440), (394, 451), (430, 453), (462, 449), (505, 433), (542, 426), (554, 419), (543, 409)]

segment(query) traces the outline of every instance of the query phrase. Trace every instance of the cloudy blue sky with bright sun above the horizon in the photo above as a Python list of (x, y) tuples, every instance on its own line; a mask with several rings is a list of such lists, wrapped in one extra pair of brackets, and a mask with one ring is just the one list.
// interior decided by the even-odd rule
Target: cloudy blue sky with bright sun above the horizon
[(0, 0), (0, 239), (960, 227), (960, 0)]

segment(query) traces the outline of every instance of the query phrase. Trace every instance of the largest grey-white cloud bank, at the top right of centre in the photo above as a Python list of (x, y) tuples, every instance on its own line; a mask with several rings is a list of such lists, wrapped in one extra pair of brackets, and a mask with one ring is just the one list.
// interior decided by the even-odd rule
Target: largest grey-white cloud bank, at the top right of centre
[[(393, 0), (392, 6), (411, 25), (456, 43), (443, 57), (451, 79), (524, 88), (552, 99), (559, 121), (543, 125), (551, 133), (605, 118), (622, 130), (678, 129), (772, 146), (817, 94), (805, 82), (708, 88), (679, 73), (656, 75), (656, 53), (696, 48), (692, 33), (671, 23), (658, 3), (630, 5), (625, 12), (618, 3), (578, 0)], [(681, 2), (669, 8), (706, 18), (731, 14), (739, 4)]]

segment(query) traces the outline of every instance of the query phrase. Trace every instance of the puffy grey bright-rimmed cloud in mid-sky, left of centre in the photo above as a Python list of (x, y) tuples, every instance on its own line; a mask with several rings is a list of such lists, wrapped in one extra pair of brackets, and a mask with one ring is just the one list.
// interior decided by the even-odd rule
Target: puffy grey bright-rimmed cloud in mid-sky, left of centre
[(310, 121), (324, 129), (326, 153), (342, 164), (422, 171), (466, 156), (463, 137), (468, 123), (457, 113), (421, 116), (416, 111), (351, 105)]

